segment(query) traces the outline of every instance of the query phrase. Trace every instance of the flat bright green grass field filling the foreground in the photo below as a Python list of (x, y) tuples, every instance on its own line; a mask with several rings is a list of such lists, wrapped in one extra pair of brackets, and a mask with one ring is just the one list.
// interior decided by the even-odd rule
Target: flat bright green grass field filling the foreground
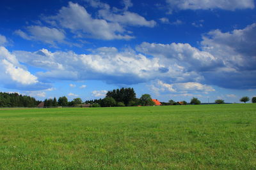
[(256, 104), (0, 109), (0, 169), (256, 169)]

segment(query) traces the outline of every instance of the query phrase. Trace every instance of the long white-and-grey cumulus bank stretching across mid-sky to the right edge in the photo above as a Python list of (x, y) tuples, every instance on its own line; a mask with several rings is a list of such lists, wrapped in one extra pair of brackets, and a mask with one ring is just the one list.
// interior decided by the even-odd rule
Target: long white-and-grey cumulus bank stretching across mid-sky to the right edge
[(136, 51), (131, 48), (119, 51), (115, 47), (97, 48), (89, 54), (47, 49), (15, 51), (8, 55), (8, 60), (14, 66), (22, 62), (45, 70), (35, 77), (28, 74), (31, 82), (102, 80), (131, 85), (158, 79), (162, 82), (159, 87), (168, 92), (189, 89), (212, 92), (211, 85), (255, 89), (255, 27), (252, 24), (230, 32), (208, 32), (200, 49), (187, 43), (144, 42)]

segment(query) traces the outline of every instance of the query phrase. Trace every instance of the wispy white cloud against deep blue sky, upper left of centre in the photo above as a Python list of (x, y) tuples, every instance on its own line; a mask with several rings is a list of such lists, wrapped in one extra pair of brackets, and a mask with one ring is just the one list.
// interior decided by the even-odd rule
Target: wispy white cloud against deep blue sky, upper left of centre
[(124, 28), (118, 23), (107, 22), (103, 19), (93, 18), (86, 9), (76, 3), (68, 3), (62, 7), (57, 15), (47, 17), (48, 21), (56, 21), (61, 27), (70, 29), (84, 37), (97, 39), (131, 39), (132, 36), (125, 34)]

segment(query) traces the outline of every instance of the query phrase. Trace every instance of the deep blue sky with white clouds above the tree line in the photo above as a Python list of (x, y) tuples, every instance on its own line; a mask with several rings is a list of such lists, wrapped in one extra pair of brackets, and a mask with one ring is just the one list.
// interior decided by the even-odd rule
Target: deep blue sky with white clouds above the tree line
[(0, 91), (44, 100), (256, 96), (253, 0), (2, 0)]

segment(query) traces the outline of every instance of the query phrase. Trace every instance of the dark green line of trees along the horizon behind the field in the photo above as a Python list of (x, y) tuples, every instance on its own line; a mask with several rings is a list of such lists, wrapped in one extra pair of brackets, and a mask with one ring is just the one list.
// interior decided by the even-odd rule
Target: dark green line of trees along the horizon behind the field
[[(247, 96), (241, 97), (241, 102), (248, 102), (250, 98)], [(22, 96), (18, 93), (6, 93), (0, 92), (0, 107), (36, 107), (42, 101), (37, 101), (34, 97)], [(222, 99), (217, 99), (216, 104), (224, 104), (225, 101)], [(252, 103), (256, 103), (256, 97), (252, 97)], [(90, 104), (91, 107), (115, 107), (115, 106), (153, 106), (155, 103), (149, 94), (143, 94), (140, 98), (136, 97), (136, 92), (133, 88), (121, 88), (109, 90), (106, 93), (106, 97), (103, 99), (94, 99), (82, 101), (81, 98), (77, 97), (72, 101), (68, 101), (67, 97), (56, 97), (53, 99), (45, 99), (44, 106), (54, 107), (54, 106), (79, 106), (81, 104)], [(161, 105), (186, 105), (186, 101), (175, 102), (172, 99), (167, 103), (161, 102)], [(201, 101), (193, 97), (189, 104), (201, 104)]]

